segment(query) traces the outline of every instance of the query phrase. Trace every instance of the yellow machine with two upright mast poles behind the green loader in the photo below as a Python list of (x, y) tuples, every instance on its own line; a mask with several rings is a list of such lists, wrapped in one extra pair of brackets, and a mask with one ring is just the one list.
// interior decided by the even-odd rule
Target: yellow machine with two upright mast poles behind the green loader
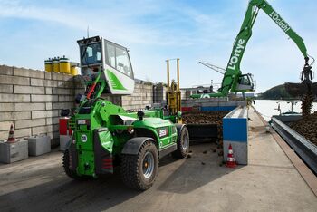
[[(169, 61), (167, 60), (168, 68), (168, 111), (170, 115), (178, 115), (178, 112), (181, 111), (181, 93), (179, 89), (179, 59), (177, 61), (177, 76), (178, 82), (172, 80), (169, 84)], [(181, 122), (181, 120), (178, 120)]]

